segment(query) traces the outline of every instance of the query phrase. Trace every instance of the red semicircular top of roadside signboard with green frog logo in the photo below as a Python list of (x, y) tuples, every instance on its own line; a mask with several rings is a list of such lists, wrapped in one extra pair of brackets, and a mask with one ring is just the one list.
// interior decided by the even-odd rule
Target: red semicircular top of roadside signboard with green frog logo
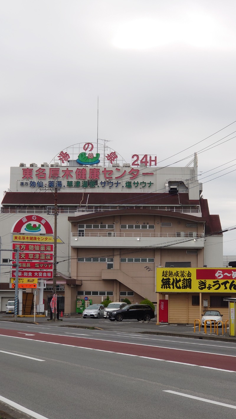
[(26, 215), (13, 225), (12, 233), (53, 234), (52, 226), (39, 215)]

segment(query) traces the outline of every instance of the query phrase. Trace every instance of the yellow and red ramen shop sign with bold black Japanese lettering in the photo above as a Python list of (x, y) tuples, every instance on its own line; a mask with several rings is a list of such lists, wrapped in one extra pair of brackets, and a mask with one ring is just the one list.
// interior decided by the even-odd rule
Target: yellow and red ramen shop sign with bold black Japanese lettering
[(156, 292), (235, 292), (236, 268), (156, 268)]

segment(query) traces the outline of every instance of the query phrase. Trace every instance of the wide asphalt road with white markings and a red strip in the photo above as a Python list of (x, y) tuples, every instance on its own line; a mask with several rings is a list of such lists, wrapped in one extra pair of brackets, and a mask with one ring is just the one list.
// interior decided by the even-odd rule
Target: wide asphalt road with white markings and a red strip
[(37, 419), (236, 416), (233, 342), (6, 321), (0, 368), (0, 398)]

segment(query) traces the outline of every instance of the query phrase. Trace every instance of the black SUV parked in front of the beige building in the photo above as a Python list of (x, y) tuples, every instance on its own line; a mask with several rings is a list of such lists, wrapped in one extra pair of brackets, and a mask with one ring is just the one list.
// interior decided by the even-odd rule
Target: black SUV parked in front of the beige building
[(138, 321), (149, 321), (154, 317), (154, 310), (150, 308), (150, 305), (146, 304), (129, 304), (122, 308), (122, 310), (112, 311), (111, 313), (111, 319), (116, 321), (122, 321), (123, 318), (136, 318)]

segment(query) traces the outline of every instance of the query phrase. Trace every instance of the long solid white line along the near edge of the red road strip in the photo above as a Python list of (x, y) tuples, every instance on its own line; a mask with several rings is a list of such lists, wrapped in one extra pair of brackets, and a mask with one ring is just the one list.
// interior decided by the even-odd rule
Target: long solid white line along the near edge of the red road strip
[[(0, 335), (0, 336), (5, 336), (5, 335)], [(61, 336), (61, 335), (58, 335)], [(24, 339), (24, 340), (30, 340), (31, 342), (39, 342), (39, 343), (49, 343), (49, 344), (53, 344), (53, 345), (61, 345), (61, 346), (67, 346), (70, 348), (78, 348), (78, 349), (89, 349), (91, 351), (97, 351), (97, 352), (105, 352), (105, 353), (110, 353), (110, 354), (117, 354), (117, 355), (126, 355), (127, 357), (136, 357), (136, 358), (145, 358), (146, 360), (154, 360), (154, 361), (162, 361), (162, 362), (169, 362), (172, 364), (180, 364), (180, 365), (188, 365), (190, 367), (201, 367), (201, 368), (208, 368), (208, 367), (204, 367), (203, 365), (197, 365), (197, 364), (188, 364), (187, 362), (178, 362), (178, 361), (169, 361), (169, 360), (163, 360), (161, 358), (152, 358), (152, 357), (144, 357), (142, 355), (133, 355), (133, 354), (125, 354), (123, 352), (115, 352), (115, 351), (106, 351), (105, 349), (94, 349), (94, 348), (86, 348), (83, 346), (76, 346), (76, 345), (68, 345), (65, 343), (57, 343), (57, 342), (47, 342), (47, 341), (40, 341), (37, 339), (29, 339), (29, 338), (23, 338), (23, 337), (19, 337), (19, 336), (7, 336), (9, 338), (14, 338), (14, 339)], [(72, 336), (74, 337), (74, 336)], [(215, 368), (216, 370), (218, 370), (218, 368)], [(236, 372), (236, 371), (231, 371), (231, 370), (222, 370), (219, 368), (219, 371), (224, 371), (224, 372)], [(47, 418), (46, 418), (47, 419)]]

